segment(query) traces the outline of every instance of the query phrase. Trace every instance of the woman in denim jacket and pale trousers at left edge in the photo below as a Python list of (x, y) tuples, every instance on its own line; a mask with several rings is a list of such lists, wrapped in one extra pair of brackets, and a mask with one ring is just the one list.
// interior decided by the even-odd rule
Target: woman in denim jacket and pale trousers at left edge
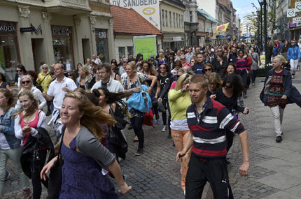
[(22, 153), (21, 140), (15, 137), (15, 108), (13, 108), (13, 94), (8, 89), (0, 89), (0, 197), (3, 193), (6, 177), (6, 163), (10, 159), (19, 175), (23, 198), (29, 198), (29, 179), (22, 170), (20, 157)]

